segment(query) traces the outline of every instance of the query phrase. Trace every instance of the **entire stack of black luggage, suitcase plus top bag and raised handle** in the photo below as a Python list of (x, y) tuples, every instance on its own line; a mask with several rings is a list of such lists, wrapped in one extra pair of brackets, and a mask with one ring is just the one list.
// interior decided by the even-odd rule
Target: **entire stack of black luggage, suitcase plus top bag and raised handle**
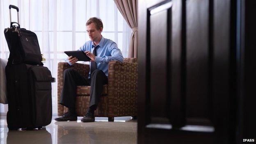
[[(9, 6), (18, 12), (18, 7)], [(34, 32), (13, 25), (5, 29), (10, 55), (5, 68), (7, 80), (7, 126), (18, 128), (42, 128), (52, 119), (51, 72), (41, 63), (42, 57)]]

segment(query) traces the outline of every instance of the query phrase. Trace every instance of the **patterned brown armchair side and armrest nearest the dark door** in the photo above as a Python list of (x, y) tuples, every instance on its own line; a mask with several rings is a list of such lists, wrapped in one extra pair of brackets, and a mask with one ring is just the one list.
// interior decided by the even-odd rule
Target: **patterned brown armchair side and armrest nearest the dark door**
[[(137, 115), (138, 64), (133, 62), (109, 62), (108, 115)], [(117, 108), (118, 107), (118, 108)]]

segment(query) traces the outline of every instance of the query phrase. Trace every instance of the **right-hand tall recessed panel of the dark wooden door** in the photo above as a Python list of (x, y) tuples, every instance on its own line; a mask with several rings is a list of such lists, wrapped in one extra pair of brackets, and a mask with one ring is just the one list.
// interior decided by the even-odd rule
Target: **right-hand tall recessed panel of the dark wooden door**
[(186, 0), (186, 119), (210, 124), (209, 1)]

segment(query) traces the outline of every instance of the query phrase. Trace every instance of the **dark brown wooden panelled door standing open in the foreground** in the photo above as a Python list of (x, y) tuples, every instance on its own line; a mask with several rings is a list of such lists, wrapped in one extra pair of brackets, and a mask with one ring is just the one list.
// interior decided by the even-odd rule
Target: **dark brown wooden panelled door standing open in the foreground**
[(139, 0), (139, 144), (235, 143), (236, 5)]

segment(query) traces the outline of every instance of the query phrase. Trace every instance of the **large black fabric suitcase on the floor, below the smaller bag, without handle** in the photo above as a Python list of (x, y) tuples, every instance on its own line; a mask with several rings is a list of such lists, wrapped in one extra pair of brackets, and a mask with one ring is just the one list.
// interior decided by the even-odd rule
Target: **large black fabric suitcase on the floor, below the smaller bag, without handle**
[(52, 119), (53, 78), (47, 67), (25, 63), (7, 65), (7, 126), (41, 128)]

